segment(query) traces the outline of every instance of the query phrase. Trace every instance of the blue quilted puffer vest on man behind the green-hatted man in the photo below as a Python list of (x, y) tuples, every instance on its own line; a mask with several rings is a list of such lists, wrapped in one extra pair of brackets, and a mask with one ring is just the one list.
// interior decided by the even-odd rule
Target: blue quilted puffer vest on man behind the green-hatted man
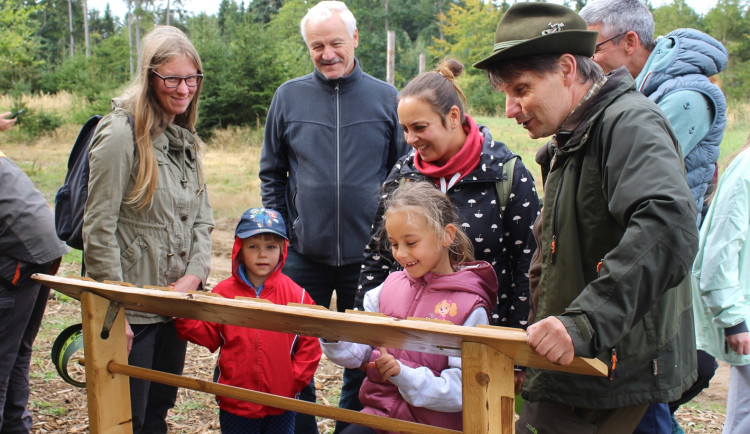
[[(728, 60), (729, 54), (721, 42), (698, 30), (677, 29), (657, 40), (656, 47), (636, 78), (638, 89), (659, 104), (678, 137), (685, 137), (676, 125), (686, 125), (686, 116), (694, 119), (686, 126), (689, 129), (687, 134), (692, 134), (693, 130), (707, 131), (694, 147), (685, 151), (685, 171), (688, 186), (698, 206), (698, 222), (701, 221), (700, 210), (706, 188), (713, 181), (719, 159), (719, 144), (727, 122), (724, 94), (708, 77), (723, 71)], [(683, 91), (687, 91), (683, 93), (686, 99), (693, 92), (702, 94), (708, 102), (710, 115), (690, 110), (689, 103), (682, 104), (679, 98), (665, 103), (667, 97), (675, 97), (677, 92)], [(676, 121), (676, 118), (681, 120)], [(685, 150), (687, 144), (681, 145)]]

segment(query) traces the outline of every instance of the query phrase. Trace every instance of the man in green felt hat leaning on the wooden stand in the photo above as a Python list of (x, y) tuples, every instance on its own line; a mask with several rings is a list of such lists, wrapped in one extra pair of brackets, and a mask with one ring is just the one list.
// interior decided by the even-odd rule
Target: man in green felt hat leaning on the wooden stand
[[(597, 357), (608, 378), (529, 369), (518, 432), (631, 433), (695, 380), (689, 273), (696, 206), (669, 120), (626, 69), (604, 76), (597, 32), (567, 7), (517, 3), (475, 64), (532, 138), (544, 207), (531, 348)], [(538, 299), (536, 298), (538, 297)]]

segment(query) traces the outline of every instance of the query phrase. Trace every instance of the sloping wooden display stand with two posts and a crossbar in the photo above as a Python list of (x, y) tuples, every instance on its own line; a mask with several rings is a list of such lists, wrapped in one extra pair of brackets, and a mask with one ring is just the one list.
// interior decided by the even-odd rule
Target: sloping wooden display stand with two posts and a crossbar
[(204, 292), (183, 294), (169, 288), (136, 288), (126, 283), (99, 283), (43, 274), (35, 275), (34, 279), (81, 301), (89, 421), (94, 434), (132, 432), (128, 377), (388, 431), (457, 432), (129, 366), (125, 315), (119, 314), (122, 309), (460, 356), (465, 433), (514, 433), (514, 365), (607, 375), (606, 365), (597, 359), (577, 357), (567, 366), (548, 362), (531, 351), (526, 333), (518, 329), (462, 327), (411, 318), (399, 320), (362, 312), (333, 312), (307, 305), (280, 306), (253, 299), (225, 299)]

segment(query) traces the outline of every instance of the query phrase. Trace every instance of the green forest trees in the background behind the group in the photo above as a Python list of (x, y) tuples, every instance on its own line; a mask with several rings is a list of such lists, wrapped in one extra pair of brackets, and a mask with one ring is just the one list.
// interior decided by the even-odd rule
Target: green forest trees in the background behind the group
[[(118, 1), (118, 0), (112, 0)], [(106, 113), (110, 100), (129, 83), (141, 37), (153, 26), (184, 30), (201, 54), (205, 84), (198, 131), (262, 125), (276, 88), (304, 75), (312, 64), (299, 34), (299, 21), (314, 2), (305, 0), (222, 0), (218, 13), (191, 14), (184, 0), (120, 0), (120, 19), (109, 5), (87, 10), (85, 0), (0, 0), (0, 93), (23, 107), (24, 95), (68, 92), (83, 98), (70, 120), (83, 123)], [(504, 97), (490, 89), (486, 74), (471, 65), (486, 56), (508, 1), (347, 0), (357, 17), (362, 68), (385, 80), (387, 32), (396, 35), (394, 84), (403, 87), (419, 72), (419, 55), (430, 69), (445, 57), (467, 66), (461, 77), (470, 111), (502, 115)], [(565, 2), (580, 10), (585, 0)], [(648, 2), (647, 2), (648, 3)], [(720, 85), (730, 105), (750, 92), (750, 14), (747, 0), (718, 0), (698, 14), (684, 0), (652, 11), (656, 35), (691, 27), (704, 31), (729, 51)], [(32, 116), (29, 116), (32, 115)], [(35, 118), (36, 115), (38, 118)], [(32, 136), (54, 130), (64, 119), (53, 113), (26, 113)]]

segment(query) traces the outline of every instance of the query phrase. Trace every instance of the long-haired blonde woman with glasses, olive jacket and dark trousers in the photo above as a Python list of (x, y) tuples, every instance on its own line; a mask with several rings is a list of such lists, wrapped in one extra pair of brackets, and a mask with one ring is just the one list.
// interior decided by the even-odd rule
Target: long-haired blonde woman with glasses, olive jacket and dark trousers
[[(141, 44), (132, 85), (113, 100), (89, 151), (84, 266), (96, 279), (182, 291), (205, 284), (214, 222), (195, 132), (203, 68), (184, 33)], [(186, 342), (171, 318), (126, 311), (128, 363), (181, 374)], [(133, 432), (167, 431), (177, 388), (130, 379)]]

